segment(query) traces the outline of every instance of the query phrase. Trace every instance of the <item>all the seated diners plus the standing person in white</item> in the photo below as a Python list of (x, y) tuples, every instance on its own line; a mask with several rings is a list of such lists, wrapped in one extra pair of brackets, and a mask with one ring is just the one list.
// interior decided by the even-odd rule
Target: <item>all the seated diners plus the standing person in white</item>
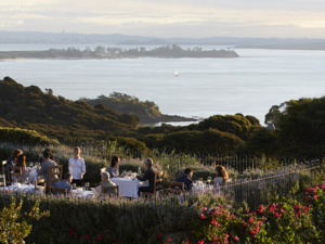
[[(14, 166), (22, 167), (22, 171), (24, 176), (28, 176), (30, 169), (26, 171), (25, 164), (26, 156), (18, 149), (12, 152), (12, 155), (6, 160), (5, 167)], [(106, 171), (101, 172), (101, 185), (103, 187), (114, 187), (116, 185), (110, 179), (113, 178), (122, 178), (125, 176), (119, 174), (119, 164), (120, 158), (118, 156), (113, 156), (110, 160), (110, 166), (106, 168)], [(57, 163), (54, 160), (53, 153), (47, 149), (43, 152), (43, 159), (40, 166), (37, 166), (37, 174), (39, 178), (43, 178), (46, 180), (47, 185), (50, 185), (50, 180), (54, 189), (66, 189), (67, 193), (72, 191), (72, 184), (76, 184), (77, 187), (83, 185), (83, 176), (86, 174), (86, 164), (84, 159), (80, 157), (80, 149), (74, 149), (74, 156), (68, 160), (68, 172), (66, 172), (63, 177), (62, 181), (53, 181), (50, 179), (50, 167), (57, 166)], [(154, 192), (155, 189), (155, 177), (158, 170), (153, 166), (153, 159), (147, 157), (144, 160), (144, 167), (146, 168), (145, 172), (136, 176), (136, 179), (140, 181), (147, 181), (147, 187), (139, 187), (138, 195), (141, 195), (141, 192)], [(10, 170), (5, 170), (9, 175), (6, 176), (10, 179)], [(216, 167), (216, 179), (214, 184), (224, 185), (224, 183), (229, 180), (227, 172), (225, 168), (221, 165)], [(57, 176), (55, 176), (57, 178)], [(184, 190), (191, 191), (193, 189), (193, 170), (191, 168), (186, 168), (184, 170), (184, 175), (177, 178), (176, 182), (184, 183)], [(157, 178), (159, 178), (157, 176)], [(159, 182), (161, 184), (161, 182)], [(114, 190), (107, 190), (105, 193), (114, 193)]]

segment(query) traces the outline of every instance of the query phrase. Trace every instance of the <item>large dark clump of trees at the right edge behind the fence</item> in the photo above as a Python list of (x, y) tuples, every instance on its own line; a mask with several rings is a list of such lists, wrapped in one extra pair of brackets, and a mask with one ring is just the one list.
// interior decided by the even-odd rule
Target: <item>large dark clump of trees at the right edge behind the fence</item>
[(325, 97), (299, 99), (274, 105), (265, 115), (276, 130), (258, 129), (239, 152), (285, 157), (325, 156)]

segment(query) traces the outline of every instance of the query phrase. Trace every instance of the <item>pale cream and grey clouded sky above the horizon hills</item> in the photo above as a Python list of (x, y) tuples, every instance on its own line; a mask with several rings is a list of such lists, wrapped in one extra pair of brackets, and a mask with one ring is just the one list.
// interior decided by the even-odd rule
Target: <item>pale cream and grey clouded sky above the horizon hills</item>
[(0, 30), (325, 38), (325, 0), (0, 0)]

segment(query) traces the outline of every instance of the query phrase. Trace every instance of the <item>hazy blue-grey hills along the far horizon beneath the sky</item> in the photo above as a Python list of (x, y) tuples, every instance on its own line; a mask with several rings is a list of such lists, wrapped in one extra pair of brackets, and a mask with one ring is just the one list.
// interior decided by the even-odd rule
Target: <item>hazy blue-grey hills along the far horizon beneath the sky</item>
[[(121, 34), (76, 34), (76, 33), (39, 33), (39, 31), (4, 31), (0, 30), (0, 43), (64, 43), (64, 44), (116, 44), (130, 41), (129, 44), (139, 41), (139, 44), (144, 42), (150, 43), (151, 40), (161, 40), (173, 44), (290, 44), (290, 43), (315, 43), (324, 42), (324, 39), (315, 38), (250, 38), (250, 37), (207, 37), (207, 38), (157, 38), (129, 36)], [(138, 43), (135, 43), (138, 44)], [(166, 43), (158, 43), (166, 44)]]

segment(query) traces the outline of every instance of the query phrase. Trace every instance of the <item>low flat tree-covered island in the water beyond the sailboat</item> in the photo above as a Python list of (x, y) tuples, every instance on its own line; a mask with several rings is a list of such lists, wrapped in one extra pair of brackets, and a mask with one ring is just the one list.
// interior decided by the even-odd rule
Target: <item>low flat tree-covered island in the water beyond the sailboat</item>
[(86, 48), (83, 51), (74, 47), (68, 49), (50, 49), (47, 51), (8, 51), (0, 52), (0, 60), (8, 59), (181, 59), (181, 57), (239, 57), (233, 50), (203, 50), (202, 48), (182, 49), (177, 44), (159, 47), (151, 50), (145, 48), (121, 49), (96, 47), (93, 51)]

